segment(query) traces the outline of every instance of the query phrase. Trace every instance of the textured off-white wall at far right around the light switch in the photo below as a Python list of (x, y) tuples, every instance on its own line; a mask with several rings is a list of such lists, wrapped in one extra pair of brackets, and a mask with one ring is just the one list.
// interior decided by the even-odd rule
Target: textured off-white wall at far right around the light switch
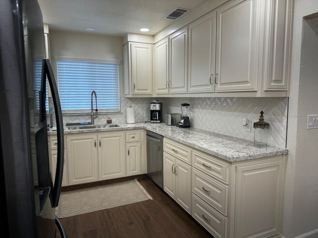
[[(318, 129), (307, 115), (318, 114), (318, 0), (295, 0), (285, 181), (283, 235), (318, 237)], [(304, 26), (304, 28), (303, 28)]]

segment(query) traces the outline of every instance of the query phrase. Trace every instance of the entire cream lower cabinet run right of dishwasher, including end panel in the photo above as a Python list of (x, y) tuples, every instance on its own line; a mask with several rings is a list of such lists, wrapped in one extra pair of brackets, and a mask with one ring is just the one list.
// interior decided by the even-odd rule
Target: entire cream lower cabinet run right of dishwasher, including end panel
[(281, 235), (286, 156), (231, 163), (167, 138), (163, 151), (164, 191), (215, 238)]

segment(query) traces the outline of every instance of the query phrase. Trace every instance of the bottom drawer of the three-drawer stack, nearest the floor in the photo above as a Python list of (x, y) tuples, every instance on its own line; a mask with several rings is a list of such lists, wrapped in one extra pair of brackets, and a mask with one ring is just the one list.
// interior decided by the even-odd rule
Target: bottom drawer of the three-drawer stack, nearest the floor
[(192, 194), (192, 217), (197, 220), (215, 238), (227, 237), (228, 219), (208, 206), (195, 194)]

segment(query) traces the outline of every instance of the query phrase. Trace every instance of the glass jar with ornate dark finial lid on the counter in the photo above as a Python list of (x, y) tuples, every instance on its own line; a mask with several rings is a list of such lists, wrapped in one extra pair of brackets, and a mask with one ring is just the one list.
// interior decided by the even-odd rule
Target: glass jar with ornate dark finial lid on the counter
[(264, 121), (264, 112), (260, 112), (259, 120), (254, 122), (254, 145), (257, 147), (267, 146), (269, 136), (269, 123)]

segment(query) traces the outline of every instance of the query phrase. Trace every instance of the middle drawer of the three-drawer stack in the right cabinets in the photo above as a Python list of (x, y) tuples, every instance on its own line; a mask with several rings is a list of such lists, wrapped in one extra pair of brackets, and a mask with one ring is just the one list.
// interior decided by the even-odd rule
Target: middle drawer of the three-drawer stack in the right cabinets
[(192, 169), (192, 191), (222, 214), (228, 215), (228, 186)]

